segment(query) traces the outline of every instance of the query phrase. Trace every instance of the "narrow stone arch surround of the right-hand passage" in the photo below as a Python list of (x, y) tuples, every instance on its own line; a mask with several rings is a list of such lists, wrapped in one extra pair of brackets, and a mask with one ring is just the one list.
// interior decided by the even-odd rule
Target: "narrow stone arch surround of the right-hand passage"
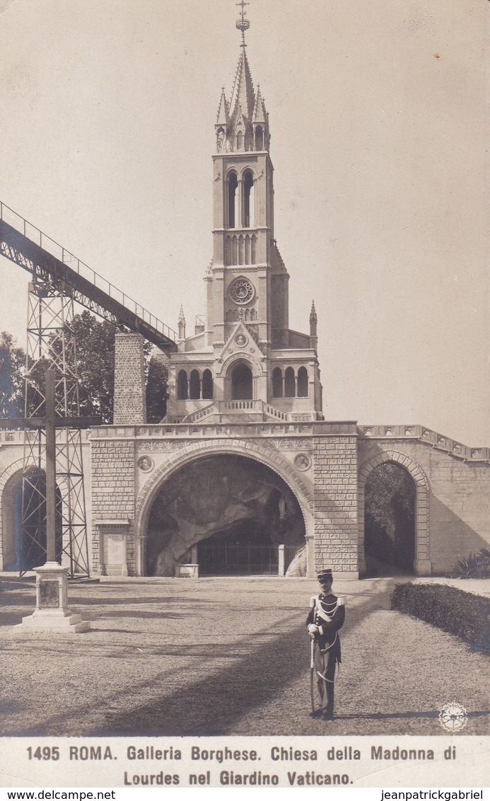
[(406, 456), (395, 450), (384, 451), (378, 453), (376, 456), (367, 459), (359, 468), (359, 484), (358, 484), (358, 509), (357, 519), (359, 523), (359, 571), (361, 573), (366, 570), (366, 562), (364, 555), (364, 488), (366, 486), (367, 478), (372, 471), (383, 465), (384, 462), (392, 461), (401, 465), (410, 473), (416, 485), (416, 515), (415, 515), (415, 544), (416, 544), (416, 557), (414, 562), (414, 571), (417, 576), (430, 576), (431, 574), (431, 556), (430, 556), (430, 541), (429, 541), (429, 483), (424, 470), (414, 461), (411, 457)]

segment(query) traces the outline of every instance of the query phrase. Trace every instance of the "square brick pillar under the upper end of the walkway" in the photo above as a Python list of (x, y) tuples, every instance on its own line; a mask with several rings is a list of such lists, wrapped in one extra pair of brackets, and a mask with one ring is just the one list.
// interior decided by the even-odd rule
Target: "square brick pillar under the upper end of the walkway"
[(114, 345), (114, 425), (145, 425), (143, 336), (118, 333)]

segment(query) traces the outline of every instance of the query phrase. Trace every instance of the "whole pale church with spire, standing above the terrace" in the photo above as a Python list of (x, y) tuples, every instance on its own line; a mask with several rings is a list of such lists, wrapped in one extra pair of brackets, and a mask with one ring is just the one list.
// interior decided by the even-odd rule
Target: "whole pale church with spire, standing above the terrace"
[(323, 420), (315, 308), (308, 334), (289, 328), (289, 276), (274, 234), (269, 115), (251, 78), (243, 8), (235, 79), (231, 95), (221, 91), (215, 122), (206, 321), (186, 336), (181, 309), (168, 423)]

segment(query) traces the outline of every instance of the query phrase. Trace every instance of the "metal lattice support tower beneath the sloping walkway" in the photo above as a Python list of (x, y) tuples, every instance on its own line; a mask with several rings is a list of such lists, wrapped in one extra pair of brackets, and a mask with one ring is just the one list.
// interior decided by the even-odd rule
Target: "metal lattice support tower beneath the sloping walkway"
[[(56, 558), (70, 578), (88, 576), (77, 357), (70, 288), (36, 279), (29, 285), (25, 417), (45, 415), (44, 373), (55, 370), (55, 413), (74, 418), (56, 432)], [(22, 481), (21, 574), (46, 561), (46, 429), (26, 429)]]

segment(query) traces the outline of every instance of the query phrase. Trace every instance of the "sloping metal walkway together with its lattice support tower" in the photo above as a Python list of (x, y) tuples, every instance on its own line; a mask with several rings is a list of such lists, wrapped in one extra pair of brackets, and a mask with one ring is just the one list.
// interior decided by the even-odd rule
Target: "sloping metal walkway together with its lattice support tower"
[[(30, 272), (25, 417), (42, 415), (41, 372), (54, 368), (55, 411), (73, 425), (58, 428), (55, 444), (57, 558), (71, 578), (90, 575), (82, 439), (78, 401), (74, 303), (131, 331), (163, 351), (177, 349), (175, 331), (87, 267), (62, 245), (0, 202), (0, 256)], [(3, 426), (5, 427), (5, 426)], [(46, 431), (25, 430), (20, 574), (46, 559)]]

